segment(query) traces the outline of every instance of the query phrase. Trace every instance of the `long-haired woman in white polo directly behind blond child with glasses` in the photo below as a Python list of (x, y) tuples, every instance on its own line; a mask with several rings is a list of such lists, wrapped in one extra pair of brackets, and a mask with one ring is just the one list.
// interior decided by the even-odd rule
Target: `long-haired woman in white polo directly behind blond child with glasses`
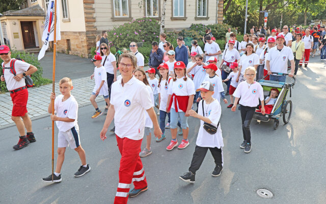
[(246, 45), (246, 53), (241, 56), (239, 65), (240, 67), (236, 82), (244, 81), (244, 70), (246, 70), (247, 67), (252, 66), (257, 70), (257, 67), (259, 65), (259, 57), (255, 54), (254, 45), (252, 43), (248, 43)]

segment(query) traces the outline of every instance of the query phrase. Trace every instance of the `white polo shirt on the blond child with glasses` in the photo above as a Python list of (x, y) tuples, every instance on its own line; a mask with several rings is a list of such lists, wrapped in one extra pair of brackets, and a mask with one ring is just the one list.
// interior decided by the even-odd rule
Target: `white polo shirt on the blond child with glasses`
[(254, 81), (249, 86), (247, 81), (243, 81), (238, 84), (233, 96), (240, 98), (239, 104), (242, 106), (256, 107), (259, 104), (258, 99), (264, 100), (264, 91), (258, 82)]

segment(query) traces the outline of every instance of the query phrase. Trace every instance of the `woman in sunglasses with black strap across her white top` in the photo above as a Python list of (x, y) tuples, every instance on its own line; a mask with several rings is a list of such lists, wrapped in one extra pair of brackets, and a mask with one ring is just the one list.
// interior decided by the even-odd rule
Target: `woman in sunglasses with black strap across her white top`
[[(106, 43), (101, 43), (100, 45), (102, 66), (106, 70), (106, 80), (108, 88), (108, 96), (111, 96), (111, 85), (113, 82), (117, 81), (117, 62), (116, 57), (110, 52), (110, 48)], [(107, 113), (108, 104), (105, 103), (104, 114)]]

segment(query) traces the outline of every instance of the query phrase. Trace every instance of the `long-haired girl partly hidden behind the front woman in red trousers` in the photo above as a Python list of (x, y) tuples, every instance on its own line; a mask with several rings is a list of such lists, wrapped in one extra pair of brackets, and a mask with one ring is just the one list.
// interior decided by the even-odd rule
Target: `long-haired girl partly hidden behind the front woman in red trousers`
[[(155, 71), (155, 69), (154, 69)], [(133, 75), (136, 79), (138, 79), (139, 81), (144, 82), (144, 84), (147, 87), (147, 90), (149, 92), (149, 95), (151, 96), (151, 100), (154, 106), (154, 96), (153, 96), (153, 91), (152, 91), (152, 87), (150, 86), (150, 84), (148, 83), (148, 80), (146, 78), (146, 73), (143, 69), (135, 69), (133, 72)], [(145, 132), (144, 134), (146, 135), (146, 147), (143, 149), (143, 151), (139, 152), (139, 156), (140, 157), (146, 157), (150, 154), (152, 154), (152, 150), (151, 150), (151, 137), (152, 137), (152, 130), (153, 130), (153, 122), (151, 120), (151, 118), (149, 117), (147, 111), (145, 112), (146, 118), (145, 118)]]

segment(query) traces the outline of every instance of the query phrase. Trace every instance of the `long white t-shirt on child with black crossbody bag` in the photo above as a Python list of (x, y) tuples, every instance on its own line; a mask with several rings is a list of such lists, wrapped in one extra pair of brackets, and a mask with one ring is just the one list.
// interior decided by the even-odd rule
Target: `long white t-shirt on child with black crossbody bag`
[[(204, 103), (204, 111), (202, 108), (202, 103)], [(207, 116), (206, 116), (207, 112)], [(206, 104), (206, 101), (202, 100), (199, 102), (198, 105), (198, 114), (199, 115), (205, 115), (205, 117), (208, 117), (209, 120), (212, 122), (210, 124), (217, 126), (220, 118), (221, 118), (221, 105), (218, 100), (213, 100), (212, 103)], [(200, 127), (198, 131), (198, 136), (196, 140), (196, 145), (201, 147), (218, 147), (221, 148), (224, 146), (223, 143), (223, 137), (222, 137), (222, 129), (221, 124), (218, 127), (218, 130), (214, 135), (210, 135), (205, 131), (204, 127), (204, 121), (200, 120)]]

